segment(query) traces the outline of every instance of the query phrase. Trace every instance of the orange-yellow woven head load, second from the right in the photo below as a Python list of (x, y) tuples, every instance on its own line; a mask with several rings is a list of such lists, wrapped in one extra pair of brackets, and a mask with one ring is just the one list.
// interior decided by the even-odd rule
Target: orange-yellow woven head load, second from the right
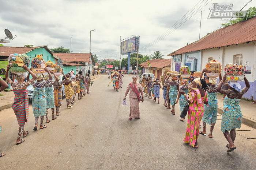
[(216, 78), (221, 74), (221, 63), (216, 60), (207, 62), (205, 68), (207, 68), (206, 75), (208, 77)]

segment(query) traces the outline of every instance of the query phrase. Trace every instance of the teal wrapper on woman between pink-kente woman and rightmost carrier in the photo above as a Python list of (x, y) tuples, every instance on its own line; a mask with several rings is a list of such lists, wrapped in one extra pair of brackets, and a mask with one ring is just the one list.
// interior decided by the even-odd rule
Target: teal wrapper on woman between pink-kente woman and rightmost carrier
[(216, 123), (218, 113), (217, 93), (207, 93), (208, 104), (204, 105), (203, 121), (207, 124)]

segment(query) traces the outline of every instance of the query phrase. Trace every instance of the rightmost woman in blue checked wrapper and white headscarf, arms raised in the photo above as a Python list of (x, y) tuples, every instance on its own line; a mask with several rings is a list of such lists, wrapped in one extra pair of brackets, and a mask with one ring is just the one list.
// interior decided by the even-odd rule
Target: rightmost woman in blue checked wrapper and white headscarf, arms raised
[(236, 145), (234, 145), (236, 128), (240, 129), (241, 127), (242, 112), (239, 102), (242, 96), (249, 90), (250, 83), (246, 77), (244, 77), (245, 87), (243, 89), (241, 89), (241, 85), (238, 82), (228, 82), (229, 90), (222, 90), (221, 86), (225, 80), (226, 75), (223, 76), (216, 90), (221, 94), (227, 95), (223, 102), (221, 131), (227, 139), (227, 142), (229, 142), (229, 144), (226, 145), (228, 148), (227, 152), (231, 152), (236, 149)]

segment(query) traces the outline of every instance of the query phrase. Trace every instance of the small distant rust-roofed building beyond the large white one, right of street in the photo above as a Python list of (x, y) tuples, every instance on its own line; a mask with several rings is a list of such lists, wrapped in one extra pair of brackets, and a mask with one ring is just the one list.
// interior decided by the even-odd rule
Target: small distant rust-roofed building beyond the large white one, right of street
[(153, 73), (159, 79), (161, 75), (166, 74), (172, 69), (172, 59), (153, 59), (148, 62), (140, 64), (140, 67), (143, 68), (143, 73)]

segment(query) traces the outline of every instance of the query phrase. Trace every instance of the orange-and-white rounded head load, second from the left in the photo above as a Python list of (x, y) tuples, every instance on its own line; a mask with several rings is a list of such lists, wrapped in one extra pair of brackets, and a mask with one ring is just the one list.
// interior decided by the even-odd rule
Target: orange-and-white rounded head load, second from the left
[(32, 72), (35, 74), (43, 74), (45, 72), (45, 60), (42, 58), (42, 55), (37, 55), (31, 61)]

